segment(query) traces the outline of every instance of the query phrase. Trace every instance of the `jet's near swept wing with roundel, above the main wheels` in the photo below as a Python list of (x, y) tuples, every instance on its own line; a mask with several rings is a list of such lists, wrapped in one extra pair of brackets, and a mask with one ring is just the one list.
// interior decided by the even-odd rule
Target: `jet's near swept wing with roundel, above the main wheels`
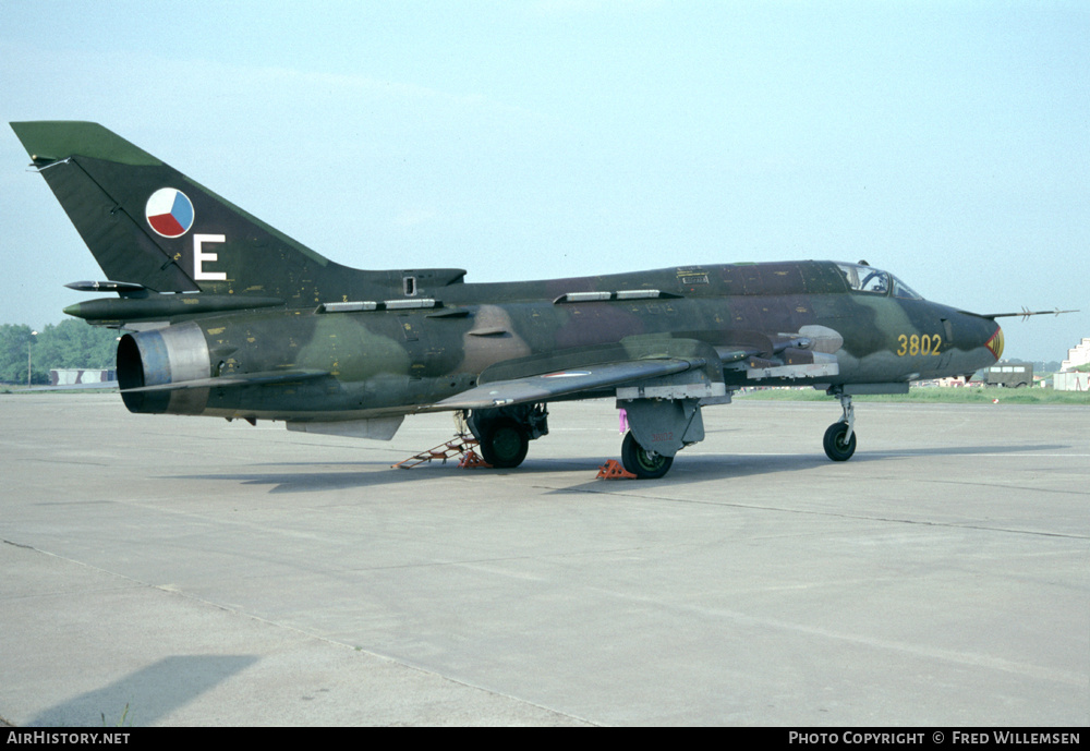
[(622, 384), (638, 384), (650, 378), (701, 367), (704, 364), (703, 360), (666, 358), (570, 367), (554, 373), (481, 384), (468, 391), (428, 404), (420, 411), (483, 410), (508, 404), (549, 401), (574, 393), (590, 393), (608, 389)]

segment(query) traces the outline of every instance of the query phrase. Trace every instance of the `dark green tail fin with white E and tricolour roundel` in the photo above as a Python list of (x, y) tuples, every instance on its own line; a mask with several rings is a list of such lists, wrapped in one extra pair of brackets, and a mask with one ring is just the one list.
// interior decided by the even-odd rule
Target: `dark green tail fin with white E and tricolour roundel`
[(11, 126), (108, 279), (299, 305), (343, 283), (344, 267), (97, 123)]

